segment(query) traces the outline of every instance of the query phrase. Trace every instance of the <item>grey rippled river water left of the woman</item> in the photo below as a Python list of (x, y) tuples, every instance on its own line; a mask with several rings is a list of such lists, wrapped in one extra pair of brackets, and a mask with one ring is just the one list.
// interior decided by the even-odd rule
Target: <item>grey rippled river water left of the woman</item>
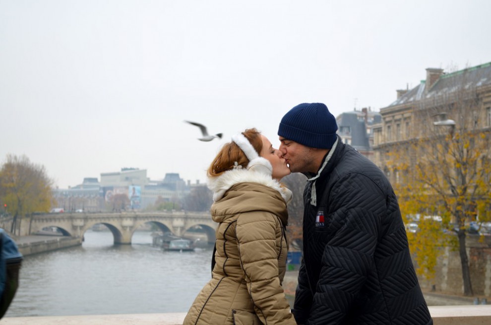
[(151, 232), (113, 245), (87, 231), (82, 246), (27, 256), (4, 317), (187, 312), (211, 278), (212, 249), (163, 252)]

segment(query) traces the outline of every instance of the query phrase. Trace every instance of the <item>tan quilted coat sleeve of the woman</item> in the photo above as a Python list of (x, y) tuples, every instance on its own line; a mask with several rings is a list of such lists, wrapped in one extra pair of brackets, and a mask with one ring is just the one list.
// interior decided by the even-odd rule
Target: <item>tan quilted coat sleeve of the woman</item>
[(244, 213), (236, 230), (241, 265), (257, 316), (263, 324), (296, 324), (278, 276), (280, 221), (268, 212)]

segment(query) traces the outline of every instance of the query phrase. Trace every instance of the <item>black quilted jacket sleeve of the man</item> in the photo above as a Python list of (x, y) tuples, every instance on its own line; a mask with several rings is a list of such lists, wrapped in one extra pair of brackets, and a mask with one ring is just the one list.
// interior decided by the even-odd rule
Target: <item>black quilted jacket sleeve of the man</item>
[(306, 324), (344, 324), (374, 264), (383, 191), (368, 177), (353, 173), (332, 188), (327, 245)]

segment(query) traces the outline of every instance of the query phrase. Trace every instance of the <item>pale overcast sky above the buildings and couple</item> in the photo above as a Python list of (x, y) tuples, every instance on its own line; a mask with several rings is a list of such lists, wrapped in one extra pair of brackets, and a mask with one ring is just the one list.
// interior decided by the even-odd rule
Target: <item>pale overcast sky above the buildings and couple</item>
[(428, 67), (491, 62), (490, 17), (489, 0), (0, 0), (0, 161), (60, 188), (123, 167), (203, 182), (245, 128), (277, 147), (299, 103), (379, 111)]

